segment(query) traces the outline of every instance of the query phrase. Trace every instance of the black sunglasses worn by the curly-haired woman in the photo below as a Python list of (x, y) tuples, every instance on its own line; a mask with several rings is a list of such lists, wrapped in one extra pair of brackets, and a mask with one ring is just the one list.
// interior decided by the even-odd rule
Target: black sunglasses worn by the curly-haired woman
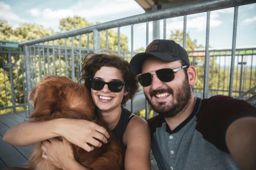
[(110, 82), (104, 82), (100, 79), (97, 78), (90, 78), (89, 79), (91, 81), (91, 88), (93, 90), (102, 90), (103, 87), (105, 86), (105, 84), (108, 85), (108, 88), (111, 92), (121, 92), (123, 89), (123, 86), (125, 84), (125, 82), (122, 81), (110, 81)]

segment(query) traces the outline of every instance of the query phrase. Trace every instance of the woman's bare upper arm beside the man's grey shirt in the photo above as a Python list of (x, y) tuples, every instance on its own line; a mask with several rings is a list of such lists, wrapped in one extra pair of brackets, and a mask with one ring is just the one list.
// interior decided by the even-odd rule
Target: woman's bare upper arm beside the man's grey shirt
[(133, 117), (127, 125), (123, 136), (125, 153), (125, 170), (151, 169), (151, 138), (149, 125), (139, 116)]

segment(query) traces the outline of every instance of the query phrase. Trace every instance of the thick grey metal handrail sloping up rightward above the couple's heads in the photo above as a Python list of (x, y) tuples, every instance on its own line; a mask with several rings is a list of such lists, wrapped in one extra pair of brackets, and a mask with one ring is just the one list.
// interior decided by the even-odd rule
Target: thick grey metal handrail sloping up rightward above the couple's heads
[(180, 17), (184, 15), (191, 15), (196, 13), (202, 13), (207, 11), (219, 10), (224, 8), (230, 8), (235, 6), (242, 6), (247, 4), (255, 3), (255, 0), (205, 0), (199, 1), (191, 4), (186, 4), (177, 7), (171, 7), (168, 9), (161, 9), (153, 12), (147, 12), (144, 14), (134, 15), (118, 20), (108, 21), (104, 23), (99, 23), (83, 28), (78, 28), (75, 30), (67, 31), (64, 33), (59, 33), (55, 35), (46, 36), (43, 38), (37, 38), (29, 41), (25, 41), (19, 44), (19, 47), (23, 47), (25, 45), (32, 45), (36, 43), (42, 43), (47, 41), (52, 41), (56, 39), (61, 39), (65, 37), (72, 37), (77, 35), (83, 35), (87, 33), (92, 33), (93, 30), (106, 30), (116, 27), (123, 27), (131, 24), (138, 24), (147, 21), (156, 21), (162, 19), (168, 19), (173, 17)]

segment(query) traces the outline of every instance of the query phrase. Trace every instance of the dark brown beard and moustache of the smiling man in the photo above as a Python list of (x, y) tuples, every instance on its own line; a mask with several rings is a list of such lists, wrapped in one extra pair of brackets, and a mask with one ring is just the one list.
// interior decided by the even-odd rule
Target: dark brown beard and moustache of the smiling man
[[(165, 93), (168, 92), (173, 96), (173, 102), (176, 99), (177, 103), (172, 103), (171, 105), (165, 105), (166, 102), (158, 102), (153, 105), (152, 101), (150, 101), (149, 97), (145, 95), (148, 103), (152, 106), (155, 112), (163, 117), (174, 117), (176, 116), (182, 109), (184, 109), (191, 100), (191, 87), (189, 85), (188, 79), (185, 78), (183, 81), (183, 85), (177, 90), (176, 96), (173, 95), (173, 89), (160, 89), (154, 90), (150, 92), (150, 97), (152, 99), (153, 96), (156, 96), (157, 93)], [(145, 93), (144, 93), (145, 94)]]

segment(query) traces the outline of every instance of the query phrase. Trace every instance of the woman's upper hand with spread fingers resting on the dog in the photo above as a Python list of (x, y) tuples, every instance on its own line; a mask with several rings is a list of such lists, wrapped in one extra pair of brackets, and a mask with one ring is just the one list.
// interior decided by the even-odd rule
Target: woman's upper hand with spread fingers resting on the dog
[[(102, 146), (102, 143), (96, 139), (101, 140), (103, 143), (108, 142), (107, 138), (109, 138), (109, 134), (107, 130), (94, 122), (78, 119), (62, 119), (60, 125), (57, 128), (60, 136), (88, 152), (92, 151), (94, 146)], [(89, 146), (87, 143), (93, 146)]]

